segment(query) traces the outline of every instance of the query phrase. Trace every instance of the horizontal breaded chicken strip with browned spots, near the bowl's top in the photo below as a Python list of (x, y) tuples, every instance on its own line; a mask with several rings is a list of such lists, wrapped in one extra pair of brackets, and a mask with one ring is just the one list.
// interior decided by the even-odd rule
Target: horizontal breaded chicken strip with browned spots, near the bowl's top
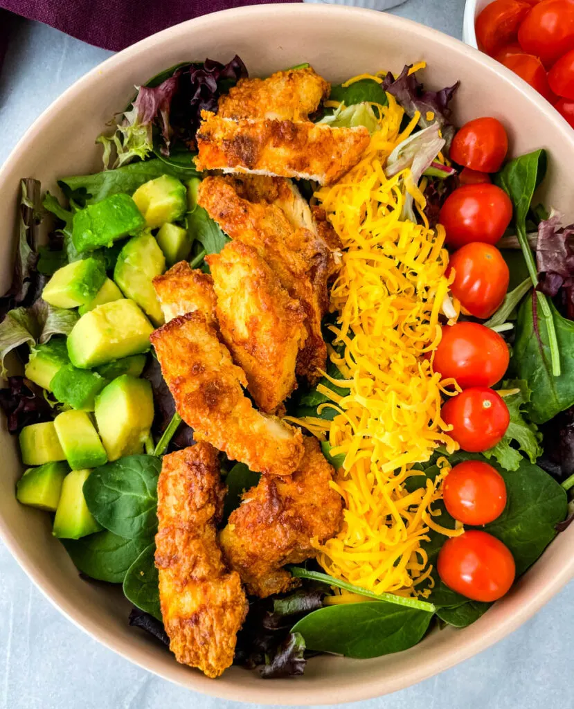
[(337, 182), (361, 160), (370, 135), (364, 126), (230, 118), (202, 111), (196, 134), (198, 170), (251, 172)]

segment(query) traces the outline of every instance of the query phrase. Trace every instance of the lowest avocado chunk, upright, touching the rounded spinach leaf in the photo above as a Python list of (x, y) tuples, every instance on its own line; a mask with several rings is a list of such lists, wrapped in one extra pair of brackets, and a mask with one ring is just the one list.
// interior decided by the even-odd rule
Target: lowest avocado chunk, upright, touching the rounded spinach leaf
[(91, 470), (72, 470), (64, 478), (52, 534), (60, 539), (79, 539), (101, 530), (84, 498), (84, 483)]

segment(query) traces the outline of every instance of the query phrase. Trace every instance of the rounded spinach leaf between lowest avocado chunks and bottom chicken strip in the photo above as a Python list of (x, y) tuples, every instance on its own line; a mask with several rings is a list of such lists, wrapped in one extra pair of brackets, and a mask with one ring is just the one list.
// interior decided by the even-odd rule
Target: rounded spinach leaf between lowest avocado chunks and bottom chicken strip
[(106, 530), (147, 540), (157, 531), (157, 478), (161, 459), (128, 455), (96, 468), (84, 483), (86, 505)]

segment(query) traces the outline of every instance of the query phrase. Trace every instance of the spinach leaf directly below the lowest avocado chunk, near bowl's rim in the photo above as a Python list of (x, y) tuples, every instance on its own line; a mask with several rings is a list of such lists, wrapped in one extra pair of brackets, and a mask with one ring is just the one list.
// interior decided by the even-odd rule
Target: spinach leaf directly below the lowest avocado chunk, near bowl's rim
[(72, 562), (86, 576), (110, 584), (121, 584), (130, 566), (150, 543), (130, 540), (103, 530), (78, 540), (60, 540)]

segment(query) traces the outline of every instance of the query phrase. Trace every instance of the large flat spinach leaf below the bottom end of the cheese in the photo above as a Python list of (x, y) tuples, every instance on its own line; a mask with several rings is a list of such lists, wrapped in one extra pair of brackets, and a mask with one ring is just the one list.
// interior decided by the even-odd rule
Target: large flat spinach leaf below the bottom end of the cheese
[(366, 659), (400, 652), (417, 644), (433, 613), (393, 603), (343, 603), (305, 615), (291, 628), (310, 650)]

